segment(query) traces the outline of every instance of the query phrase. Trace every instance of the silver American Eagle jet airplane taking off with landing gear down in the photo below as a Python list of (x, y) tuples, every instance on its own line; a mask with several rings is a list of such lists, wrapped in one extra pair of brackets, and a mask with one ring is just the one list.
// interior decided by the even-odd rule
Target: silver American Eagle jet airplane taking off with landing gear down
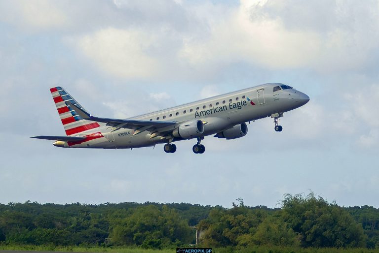
[(266, 117), (274, 119), (274, 130), (280, 132), (279, 118), (309, 101), (309, 96), (291, 86), (267, 83), (129, 119), (109, 119), (88, 113), (62, 87), (50, 92), (66, 136), (31, 138), (53, 140), (54, 146), (62, 148), (133, 149), (165, 143), (166, 153), (175, 153), (173, 142), (196, 139), (192, 151), (203, 154), (205, 136), (240, 138), (247, 134), (246, 122)]

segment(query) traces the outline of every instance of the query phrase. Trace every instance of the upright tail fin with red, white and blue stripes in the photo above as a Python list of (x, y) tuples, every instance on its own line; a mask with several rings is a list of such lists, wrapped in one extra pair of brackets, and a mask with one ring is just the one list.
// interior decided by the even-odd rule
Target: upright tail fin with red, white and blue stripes
[[(53, 96), (55, 106), (57, 107), (59, 117), (61, 118), (63, 127), (65, 128), (66, 135), (73, 135), (84, 132), (104, 125), (103, 123), (84, 120), (68, 105), (67, 101), (79, 107), (81, 110), (87, 112), (76, 100), (68, 94), (62, 87), (55, 87), (50, 89)], [(88, 112), (87, 112), (88, 113)]]

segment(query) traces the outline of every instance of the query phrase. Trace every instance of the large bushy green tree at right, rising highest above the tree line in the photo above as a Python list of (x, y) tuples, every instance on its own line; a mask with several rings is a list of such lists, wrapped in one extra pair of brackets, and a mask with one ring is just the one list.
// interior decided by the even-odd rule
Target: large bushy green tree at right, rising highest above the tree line
[(287, 194), (282, 204), (283, 221), (301, 235), (303, 247), (365, 247), (362, 226), (337, 204), (313, 192)]

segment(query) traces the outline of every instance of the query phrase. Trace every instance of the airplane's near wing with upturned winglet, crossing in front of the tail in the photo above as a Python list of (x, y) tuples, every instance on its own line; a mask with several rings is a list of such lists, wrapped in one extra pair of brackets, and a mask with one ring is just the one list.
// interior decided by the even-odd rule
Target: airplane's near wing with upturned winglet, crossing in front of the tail
[(108, 126), (114, 126), (114, 130), (121, 127), (137, 130), (135, 134), (149, 130), (150, 132), (156, 132), (156, 129), (165, 129), (167, 126), (175, 126), (175, 121), (141, 121), (141, 120), (120, 120), (109, 118), (94, 117), (86, 111), (79, 108), (76, 104), (66, 101), (68, 105), (85, 120), (96, 121), (106, 123)]

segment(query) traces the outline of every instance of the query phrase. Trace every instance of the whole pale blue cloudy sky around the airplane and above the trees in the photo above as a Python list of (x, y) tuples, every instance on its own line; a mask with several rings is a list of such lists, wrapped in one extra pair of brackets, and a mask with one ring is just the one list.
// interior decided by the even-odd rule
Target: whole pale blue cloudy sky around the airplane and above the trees
[[(379, 2), (0, 2), (0, 203), (189, 202), (278, 206), (312, 190), (379, 207)], [(310, 96), (234, 141), (60, 149), (49, 88), (126, 118), (262, 83)]]

